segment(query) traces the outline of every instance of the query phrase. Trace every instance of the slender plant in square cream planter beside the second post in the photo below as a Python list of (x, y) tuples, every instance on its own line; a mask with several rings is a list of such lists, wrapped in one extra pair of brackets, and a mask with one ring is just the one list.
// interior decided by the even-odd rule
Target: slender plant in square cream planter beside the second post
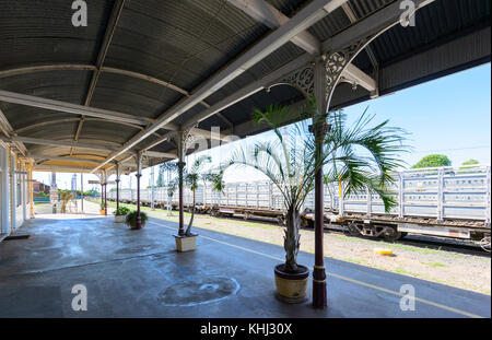
[(191, 233), (191, 227), (195, 219), (195, 204), (196, 204), (196, 190), (198, 189), (200, 180), (203, 178), (201, 172), (206, 163), (211, 163), (212, 159), (209, 155), (201, 155), (195, 160), (191, 168), (184, 174), (184, 181), (191, 190), (192, 206), (191, 218), (188, 223), (188, 227), (184, 235), (174, 235), (176, 239), (176, 248), (178, 251), (189, 251), (197, 248), (198, 234)]

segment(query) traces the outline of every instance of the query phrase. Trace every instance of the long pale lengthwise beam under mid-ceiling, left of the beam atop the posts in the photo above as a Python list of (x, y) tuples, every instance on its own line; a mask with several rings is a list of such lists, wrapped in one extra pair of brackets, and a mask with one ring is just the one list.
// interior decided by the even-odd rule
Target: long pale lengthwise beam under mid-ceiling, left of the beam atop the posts
[[(246, 52), (241, 55), (236, 60), (216, 72), (208, 81), (198, 87), (189, 97), (180, 101), (172, 108), (163, 113), (157, 120), (147, 128), (144, 131), (134, 136), (129, 140), (125, 146), (113, 153), (105, 162), (110, 162), (121, 153), (130, 150), (139, 144), (153, 132), (173, 121), (176, 117), (183, 115), (188, 109), (213, 94), (215, 91), (222, 89), (231, 81), (239, 77), (243, 72), (255, 66), (257, 62), (269, 56), (279, 47), (288, 43), (301, 32), (311, 27), (314, 23), (325, 17), (328, 13), (339, 8), (347, 0), (313, 0), (297, 14), (295, 14), (288, 23), (273, 31), (263, 39), (255, 44)], [(102, 166), (102, 165), (101, 165)], [(101, 167), (99, 166), (99, 167)], [(97, 171), (97, 167), (95, 171)]]

